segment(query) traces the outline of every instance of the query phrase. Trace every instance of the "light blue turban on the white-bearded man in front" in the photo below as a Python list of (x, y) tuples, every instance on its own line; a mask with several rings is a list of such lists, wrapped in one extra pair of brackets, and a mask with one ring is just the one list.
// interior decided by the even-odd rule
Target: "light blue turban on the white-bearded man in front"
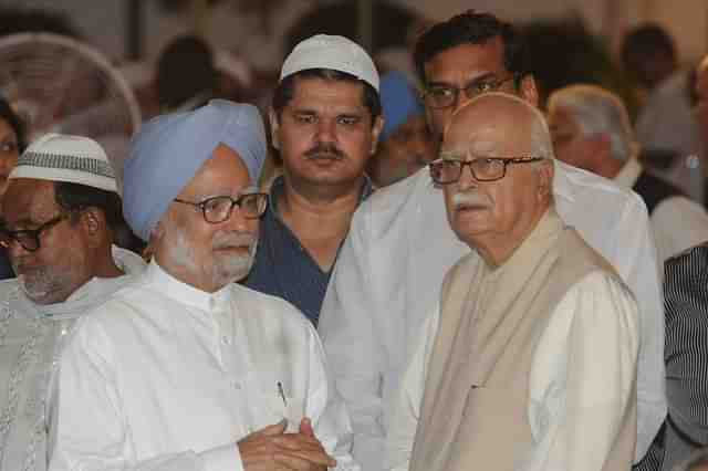
[(140, 239), (149, 239), (219, 144), (238, 153), (251, 181), (258, 184), (266, 133), (256, 106), (212, 100), (194, 112), (157, 116), (143, 126), (131, 143), (123, 181), (123, 214)]

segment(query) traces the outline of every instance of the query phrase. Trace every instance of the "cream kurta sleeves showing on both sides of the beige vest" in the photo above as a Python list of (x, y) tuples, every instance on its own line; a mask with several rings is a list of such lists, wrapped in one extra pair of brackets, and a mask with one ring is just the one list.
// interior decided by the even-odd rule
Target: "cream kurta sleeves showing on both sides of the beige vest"
[[(436, 310), (404, 375), (385, 469), (408, 470), (438, 323)], [(532, 446), (516, 469), (601, 470), (634, 400), (638, 347), (632, 295), (602, 272), (575, 284), (549, 317), (533, 355), (527, 402)]]

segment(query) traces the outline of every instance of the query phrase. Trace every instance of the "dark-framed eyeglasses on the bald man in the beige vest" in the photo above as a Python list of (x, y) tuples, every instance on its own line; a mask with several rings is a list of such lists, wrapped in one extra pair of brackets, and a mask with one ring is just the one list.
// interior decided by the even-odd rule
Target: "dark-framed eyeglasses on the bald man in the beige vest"
[(469, 167), (477, 181), (501, 180), (507, 175), (507, 166), (511, 164), (531, 164), (543, 160), (543, 157), (480, 157), (473, 160), (439, 158), (428, 164), (430, 177), (438, 185), (459, 181), (462, 169)]

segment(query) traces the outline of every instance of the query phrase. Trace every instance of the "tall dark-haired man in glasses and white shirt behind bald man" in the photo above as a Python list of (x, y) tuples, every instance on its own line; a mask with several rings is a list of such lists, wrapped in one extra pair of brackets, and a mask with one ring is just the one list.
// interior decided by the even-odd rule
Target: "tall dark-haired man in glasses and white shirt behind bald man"
[[(427, 30), (415, 48), (428, 125), (441, 139), (451, 116), (498, 91), (537, 105), (524, 44), (514, 28), (466, 12)], [(556, 210), (620, 273), (639, 304), (637, 457), (666, 415), (664, 314), (656, 250), (639, 197), (553, 160)], [(445, 272), (469, 248), (450, 230), (427, 169), (375, 192), (352, 219), (317, 327), (354, 426), (354, 456), (381, 469), (389, 401), (416, 334), (439, 300)], [(393, 262), (392, 262), (393, 261)]]

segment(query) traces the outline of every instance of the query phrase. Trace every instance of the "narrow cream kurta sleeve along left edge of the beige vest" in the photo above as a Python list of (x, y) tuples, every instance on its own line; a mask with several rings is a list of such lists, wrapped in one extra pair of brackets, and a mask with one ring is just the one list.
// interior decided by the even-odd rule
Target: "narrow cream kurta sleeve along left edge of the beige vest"
[(407, 471), (409, 468), (413, 444), (420, 419), (426, 371), (433, 355), (439, 317), (439, 311), (436, 308), (423, 324), (417, 346), (406, 366), (400, 387), (394, 397), (384, 454), (385, 470)]

